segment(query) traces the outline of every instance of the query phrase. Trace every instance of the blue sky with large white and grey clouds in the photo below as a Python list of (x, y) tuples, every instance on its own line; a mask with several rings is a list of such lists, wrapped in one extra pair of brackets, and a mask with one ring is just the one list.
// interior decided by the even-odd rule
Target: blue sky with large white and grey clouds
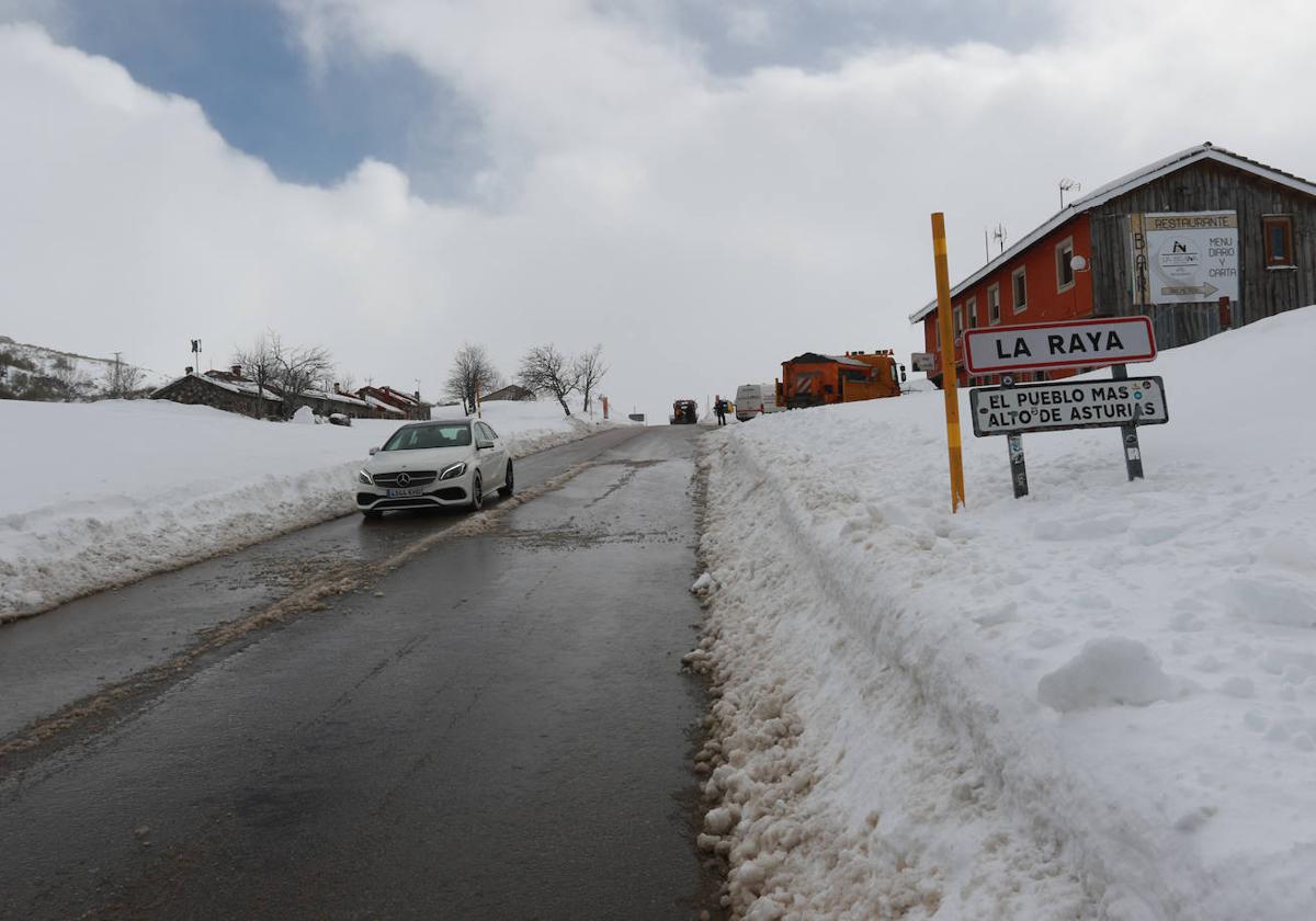
[(983, 229), (1202, 141), (1316, 176), (1305, 0), (0, 0), (0, 334), (270, 328), (430, 395), (604, 345), (666, 416), (920, 346)]

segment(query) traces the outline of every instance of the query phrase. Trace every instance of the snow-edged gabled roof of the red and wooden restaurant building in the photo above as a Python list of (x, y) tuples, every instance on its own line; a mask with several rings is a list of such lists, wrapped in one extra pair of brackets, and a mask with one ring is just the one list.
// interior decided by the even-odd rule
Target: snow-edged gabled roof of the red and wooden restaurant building
[[(1066, 222), (1074, 220), (1079, 214), (1083, 214), (1094, 208), (1104, 205), (1111, 199), (1116, 199), (1126, 192), (1138, 188), (1140, 186), (1146, 186), (1149, 182), (1159, 179), (1161, 176), (1169, 175), (1177, 170), (1182, 170), (1192, 163), (1200, 163), (1203, 161), (1212, 161), (1216, 163), (1224, 163), (1225, 166), (1232, 166), (1244, 172), (1250, 172), (1255, 176), (1261, 176), (1269, 182), (1277, 183), (1279, 186), (1287, 186), (1288, 188), (1316, 197), (1316, 184), (1303, 179), (1302, 176), (1295, 176), (1291, 172), (1284, 172), (1283, 170), (1277, 170), (1273, 166), (1266, 166), (1258, 161), (1249, 159), (1241, 154), (1225, 150), (1224, 147), (1216, 147), (1209, 141), (1199, 143), (1187, 150), (1180, 150), (1177, 154), (1171, 154), (1163, 159), (1149, 163), (1140, 170), (1134, 170), (1124, 176), (1120, 176), (1115, 182), (1109, 182), (1105, 186), (1084, 195), (1082, 199), (1071, 201), (1067, 207), (1055, 212), (1049, 220), (1034, 228), (1023, 239), (1016, 242), (1013, 246), (1007, 249), (1004, 253), (998, 255), (995, 259), (988, 262), (974, 271), (969, 278), (959, 282), (955, 287), (950, 289), (950, 296), (957, 297), (963, 291), (978, 282), (980, 282), (987, 275), (991, 275), (996, 270), (1005, 266), (1020, 253), (1026, 250), (1029, 246), (1036, 243), (1038, 239), (1051, 233), (1053, 230), (1063, 226)], [(936, 312), (937, 299), (933, 297), (930, 301), (923, 305), (915, 313), (909, 314), (909, 322), (920, 322), (929, 313)]]

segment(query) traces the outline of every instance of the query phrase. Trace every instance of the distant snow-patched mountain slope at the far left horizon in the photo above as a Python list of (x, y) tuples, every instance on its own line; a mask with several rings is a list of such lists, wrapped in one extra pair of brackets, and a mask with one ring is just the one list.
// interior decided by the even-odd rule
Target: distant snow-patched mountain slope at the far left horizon
[[(0, 396), (25, 400), (93, 400), (114, 391), (113, 358), (80, 355), (0, 336)], [(166, 374), (129, 362), (118, 366), (128, 389), (154, 389), (171, 380)], [(122, 388), (121, 388), (122, 389)]]

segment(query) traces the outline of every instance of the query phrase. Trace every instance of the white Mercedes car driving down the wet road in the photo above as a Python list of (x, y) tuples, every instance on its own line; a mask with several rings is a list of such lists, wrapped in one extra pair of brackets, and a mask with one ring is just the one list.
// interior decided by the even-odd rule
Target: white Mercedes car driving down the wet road
[(367, 518), (390, 509), (465, 507), (478, 510), (491, 488), (512, 495), (512, 458), (478, 418), (412, 422), (357, 472), (357, 508)]

